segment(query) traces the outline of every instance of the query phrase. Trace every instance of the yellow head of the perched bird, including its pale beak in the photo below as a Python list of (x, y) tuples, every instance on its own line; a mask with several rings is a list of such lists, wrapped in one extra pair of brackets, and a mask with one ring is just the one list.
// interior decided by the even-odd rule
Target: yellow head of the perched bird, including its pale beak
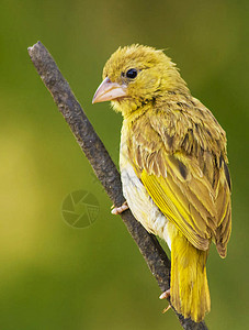
[(118, 48), (106, 62), (92, 102), (112, 101), (126, 116), (143, 105), (186, 89), (176, 65), (162, 51), (143, 45)]

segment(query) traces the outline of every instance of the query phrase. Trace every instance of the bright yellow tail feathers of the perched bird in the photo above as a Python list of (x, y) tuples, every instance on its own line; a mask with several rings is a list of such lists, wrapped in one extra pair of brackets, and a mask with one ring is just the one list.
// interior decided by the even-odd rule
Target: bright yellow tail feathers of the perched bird
[(184, 318), (200, 322), (211, 309), (207, 251), (195, 249), (178, 230), (171, 242), (171, 304)]

